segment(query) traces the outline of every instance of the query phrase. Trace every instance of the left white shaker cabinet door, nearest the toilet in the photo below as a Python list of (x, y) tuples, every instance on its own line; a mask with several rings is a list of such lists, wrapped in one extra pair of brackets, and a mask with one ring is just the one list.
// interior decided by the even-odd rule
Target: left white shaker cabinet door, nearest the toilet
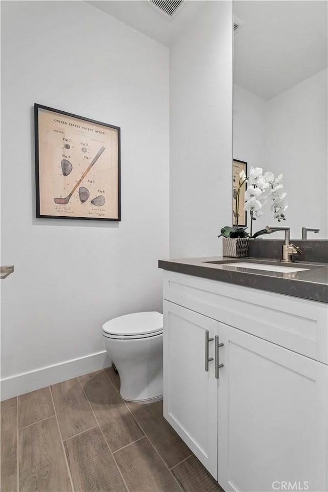
[[(164, 417), (199, 461), (217, 479), (217, 379), (215, 335), (218, 322), (169, 301), (163, 302)], [(209, 371), (205, 370), (206, 331)]]

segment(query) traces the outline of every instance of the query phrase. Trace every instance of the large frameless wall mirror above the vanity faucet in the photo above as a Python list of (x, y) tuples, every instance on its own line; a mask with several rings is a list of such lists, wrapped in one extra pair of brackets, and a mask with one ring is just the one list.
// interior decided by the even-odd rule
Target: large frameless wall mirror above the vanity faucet
[[(308, 239), (327, 239), (327, 2), (233, 6), (233, 157), (283, 174), (289, 207), (280, 225), (292, 238), (304, 226), (320, 228)], [(268, 203), (254, 226), (275, 223)]]

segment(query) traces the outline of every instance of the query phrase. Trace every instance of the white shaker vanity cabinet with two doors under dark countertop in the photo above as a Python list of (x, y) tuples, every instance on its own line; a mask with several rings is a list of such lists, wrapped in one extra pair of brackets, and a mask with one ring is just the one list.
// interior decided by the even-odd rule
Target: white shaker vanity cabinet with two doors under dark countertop
[(298, 352), (326, 361), (327, 306), (168, 271), (164, 297), (164, 415), (193, 453), (226, 492), (326, 492), (328, 365)]

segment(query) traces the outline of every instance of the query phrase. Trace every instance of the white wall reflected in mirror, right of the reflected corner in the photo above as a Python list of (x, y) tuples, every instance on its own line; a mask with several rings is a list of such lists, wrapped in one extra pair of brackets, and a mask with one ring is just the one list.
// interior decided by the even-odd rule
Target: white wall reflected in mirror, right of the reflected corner
[(303, 226), (320, 228), (309, 238), (328, 237), (327, 87), (325, 69), (268, 101), (266, 162), (283, 173), (292, 238)]

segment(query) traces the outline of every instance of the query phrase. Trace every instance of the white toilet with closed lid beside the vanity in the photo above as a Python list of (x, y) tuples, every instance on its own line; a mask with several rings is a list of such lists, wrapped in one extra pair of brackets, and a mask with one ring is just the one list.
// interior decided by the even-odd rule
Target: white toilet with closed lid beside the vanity
[(163, 394), (163, 315), (132, 313), (103, 325), (104, 345), (121, 382), (121, 397), (147, 401)]

